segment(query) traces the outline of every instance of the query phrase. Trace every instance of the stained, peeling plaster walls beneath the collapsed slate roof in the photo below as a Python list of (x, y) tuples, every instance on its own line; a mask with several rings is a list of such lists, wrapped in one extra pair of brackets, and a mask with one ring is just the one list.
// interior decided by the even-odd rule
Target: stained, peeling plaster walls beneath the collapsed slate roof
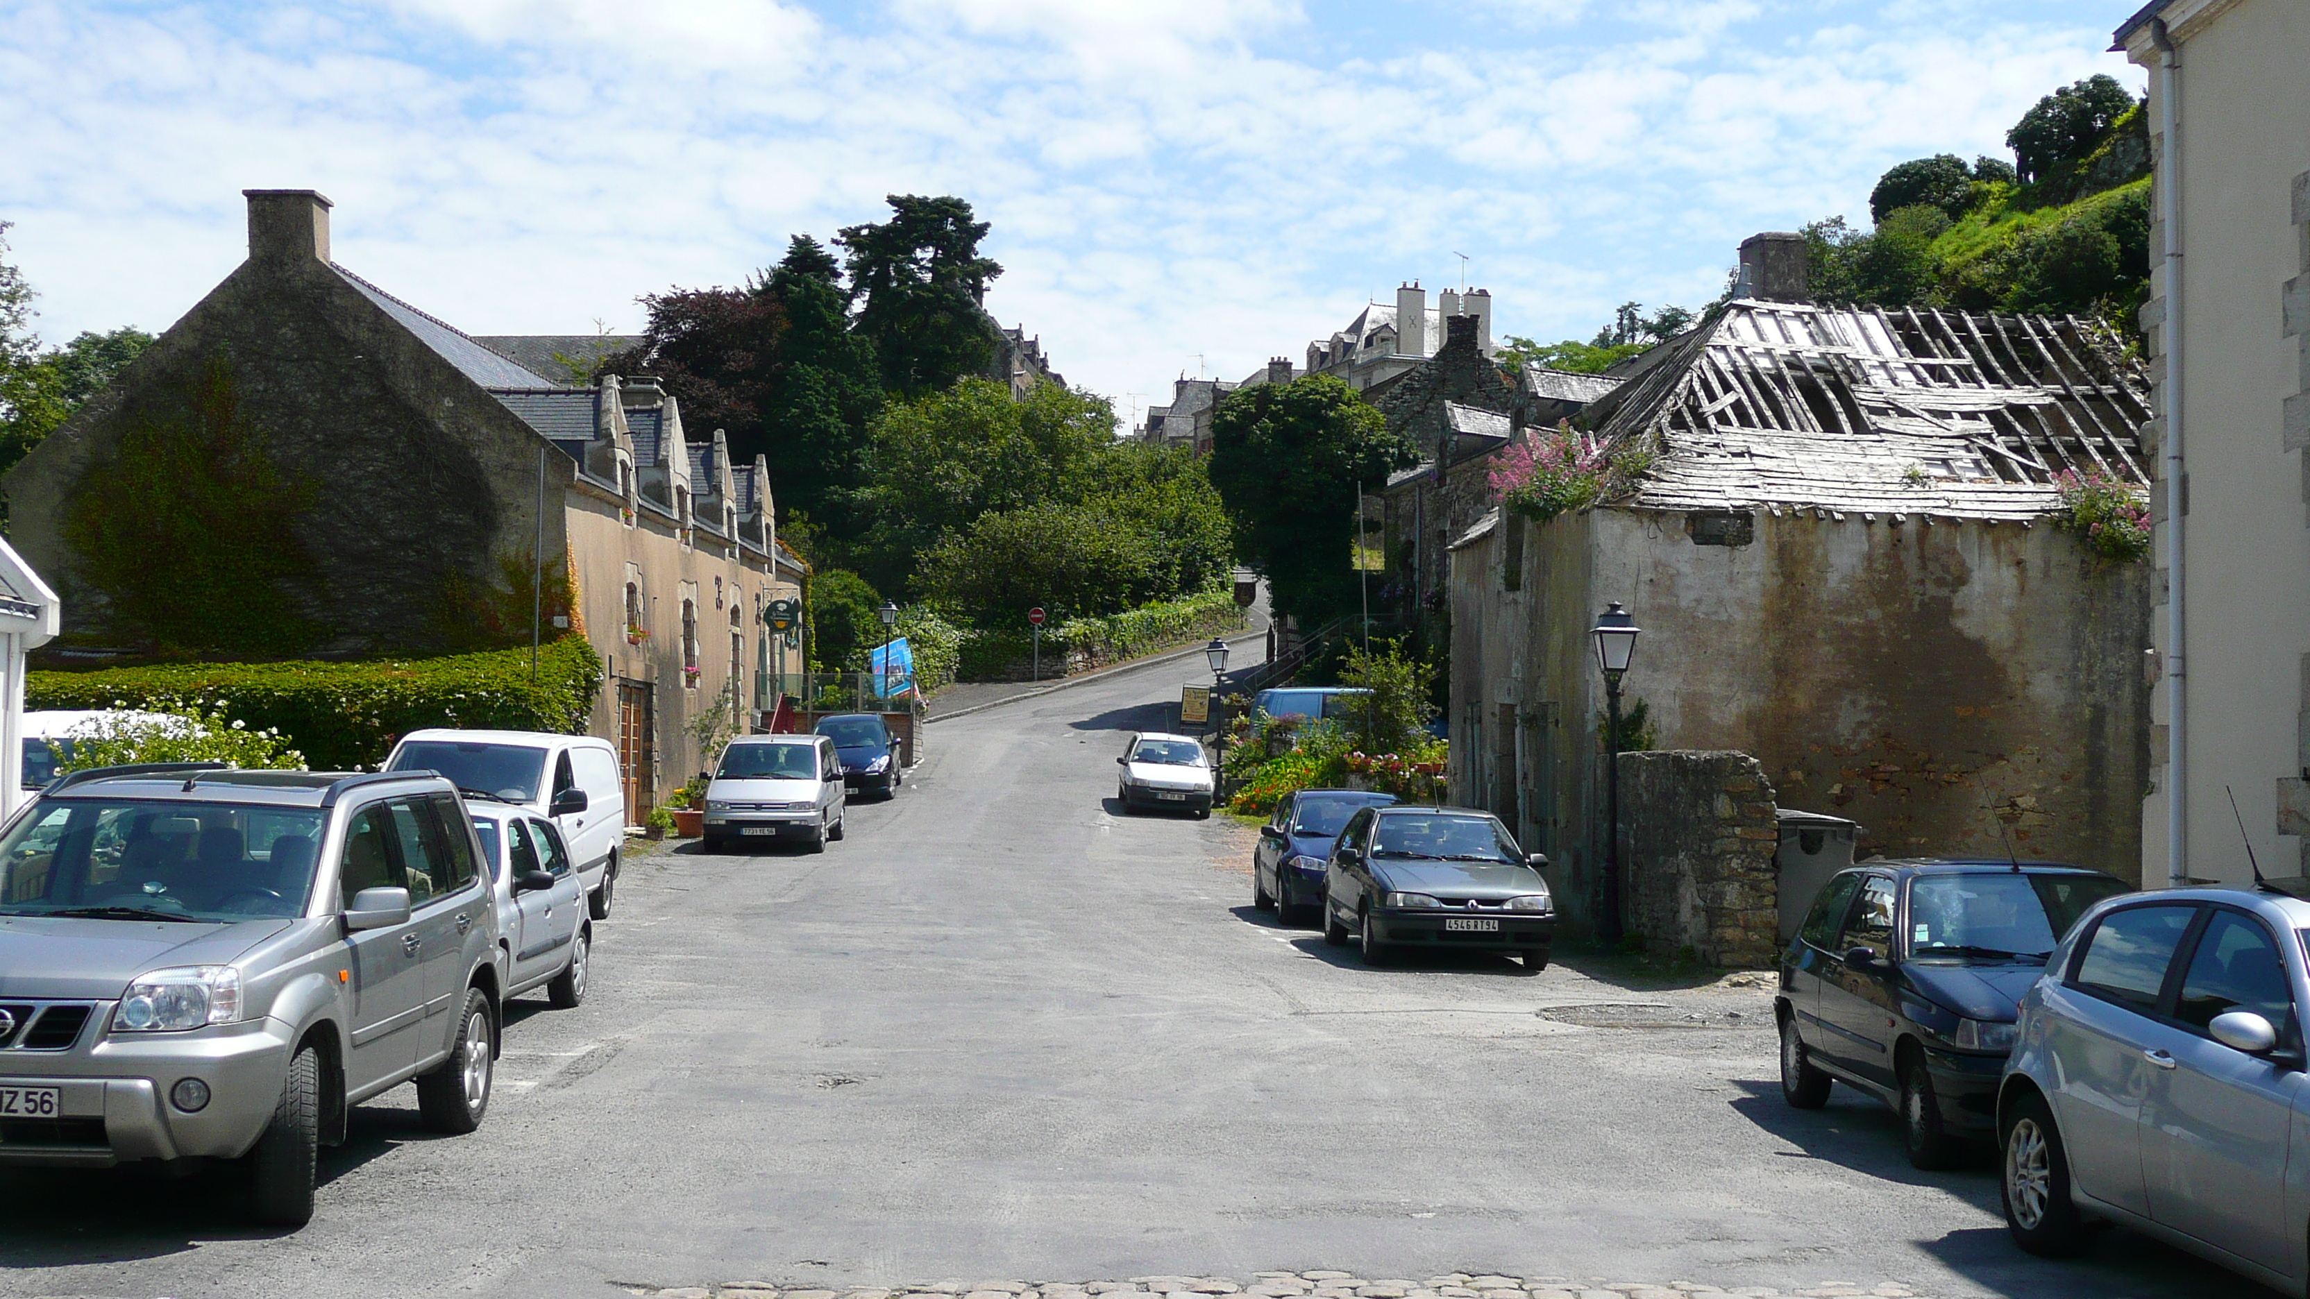
[[(1860, 853), (2070, 860), (2139, 874), (2148, 779), (2148, 571), (2049, 525), (1756, 515), (1696, 545), (1684, 515), (1589, 511), (1453, 552), (1455, 795), (1552, 818), (1552, 883), (1594, 890), (1605, 601), (1645, 629), (1626, 677), (1656, 747), (1756, 754), (1788, 807), (1866, 827)], [(1502, 710), (1529, 726), (1499, 744)], [(1529, 723), (1527, 719), (1550, 719)], [(1515, 767), (1502, 779), (1504, 767)], [(1532, 837), (1532, 830), (1527, 830)]]

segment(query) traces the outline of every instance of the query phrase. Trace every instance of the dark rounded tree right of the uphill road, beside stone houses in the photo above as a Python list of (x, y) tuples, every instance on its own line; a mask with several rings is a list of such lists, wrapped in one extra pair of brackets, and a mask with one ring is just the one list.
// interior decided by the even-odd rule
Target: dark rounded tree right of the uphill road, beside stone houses
[(1331, 374), (1229, 393), (1210, 418), (1210, 485), (1275, 610), (1321, 622), (1354, 608), (1356, 483), (1418, 460), (1386, 416)]

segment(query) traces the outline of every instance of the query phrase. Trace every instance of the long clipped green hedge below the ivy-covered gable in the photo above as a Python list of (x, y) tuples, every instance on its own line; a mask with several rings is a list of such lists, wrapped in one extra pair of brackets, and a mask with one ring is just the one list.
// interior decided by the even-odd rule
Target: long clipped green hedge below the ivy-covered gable
[(582, 636), (538, 654), (492, 650), (372, 663), (166, 663), (95, 673), (30, 673), (25, 707), (104, 710), (203, 705), (252, 728), (280, 728), (314, 770), (374, 767), (393, 742), (427, 726), (582, 733), (601, 691), (601, 659)]

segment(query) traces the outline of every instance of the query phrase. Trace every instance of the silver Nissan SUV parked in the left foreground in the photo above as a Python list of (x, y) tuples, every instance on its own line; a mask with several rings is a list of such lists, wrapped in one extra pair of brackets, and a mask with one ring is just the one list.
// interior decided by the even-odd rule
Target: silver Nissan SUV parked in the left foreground
[(416, 1079), (471, 1133), (497, 1059), (497, 911), (432, 772), (74, 772), (0, 830), (0, 1165), (240, 1158), (263, 1223)]

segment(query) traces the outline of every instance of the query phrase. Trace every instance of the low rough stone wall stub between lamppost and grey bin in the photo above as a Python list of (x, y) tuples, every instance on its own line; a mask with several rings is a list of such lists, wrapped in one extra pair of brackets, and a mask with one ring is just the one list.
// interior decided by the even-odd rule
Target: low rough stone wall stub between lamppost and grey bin
[(1765, 765), (1749, 754), (1619, 758), (1622, 920), (1652, 952), (1769, 966), (1781, 948), (1781, 830)]

